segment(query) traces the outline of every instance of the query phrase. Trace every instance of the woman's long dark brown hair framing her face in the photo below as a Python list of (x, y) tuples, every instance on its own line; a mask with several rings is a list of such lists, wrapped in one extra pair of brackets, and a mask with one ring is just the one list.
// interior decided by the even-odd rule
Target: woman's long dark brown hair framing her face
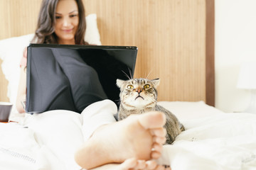
[[(38, 16), (36, 34), (33, 37), (33, 43), (58, 44), (57, 35), (55, 35), (55, 11), (59, 0), (43, 0)], [(82, 0), (75, 0), (78, 4), (79, 24), (75, 33), (75, 44), (87, 45), (85, 42), (85, 8)]]

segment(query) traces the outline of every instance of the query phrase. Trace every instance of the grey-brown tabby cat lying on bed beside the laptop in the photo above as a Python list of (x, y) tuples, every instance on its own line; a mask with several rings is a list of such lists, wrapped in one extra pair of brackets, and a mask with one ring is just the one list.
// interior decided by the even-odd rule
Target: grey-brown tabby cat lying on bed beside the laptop
[(117, 79), (117, 86), (120, 89), (117, 120), (127, 118), (131, 114), (161, 111), (166, 115), (166, 144), (171, 144), (185, 128), (173, 113), (157, 105), (156, 87), (159, 86), (159, 81), (160, 79)]

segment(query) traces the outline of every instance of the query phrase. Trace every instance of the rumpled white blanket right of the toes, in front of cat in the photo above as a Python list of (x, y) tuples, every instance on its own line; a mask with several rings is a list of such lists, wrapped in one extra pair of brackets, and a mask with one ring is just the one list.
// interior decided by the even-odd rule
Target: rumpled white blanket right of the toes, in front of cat
[(172, 169), (256, 169), (256, 115), (223, 113), (183, 121), (186, 131), (164, 146)]

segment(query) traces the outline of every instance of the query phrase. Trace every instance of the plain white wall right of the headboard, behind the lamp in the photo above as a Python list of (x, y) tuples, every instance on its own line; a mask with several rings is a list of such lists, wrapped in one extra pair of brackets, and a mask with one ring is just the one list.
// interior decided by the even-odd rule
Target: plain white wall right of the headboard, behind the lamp
[(215, 0), (216, 108), (247, 108), (250, 91), (236, 84), (242, 62), (251, 60), (256, 60), (256, 0)]

